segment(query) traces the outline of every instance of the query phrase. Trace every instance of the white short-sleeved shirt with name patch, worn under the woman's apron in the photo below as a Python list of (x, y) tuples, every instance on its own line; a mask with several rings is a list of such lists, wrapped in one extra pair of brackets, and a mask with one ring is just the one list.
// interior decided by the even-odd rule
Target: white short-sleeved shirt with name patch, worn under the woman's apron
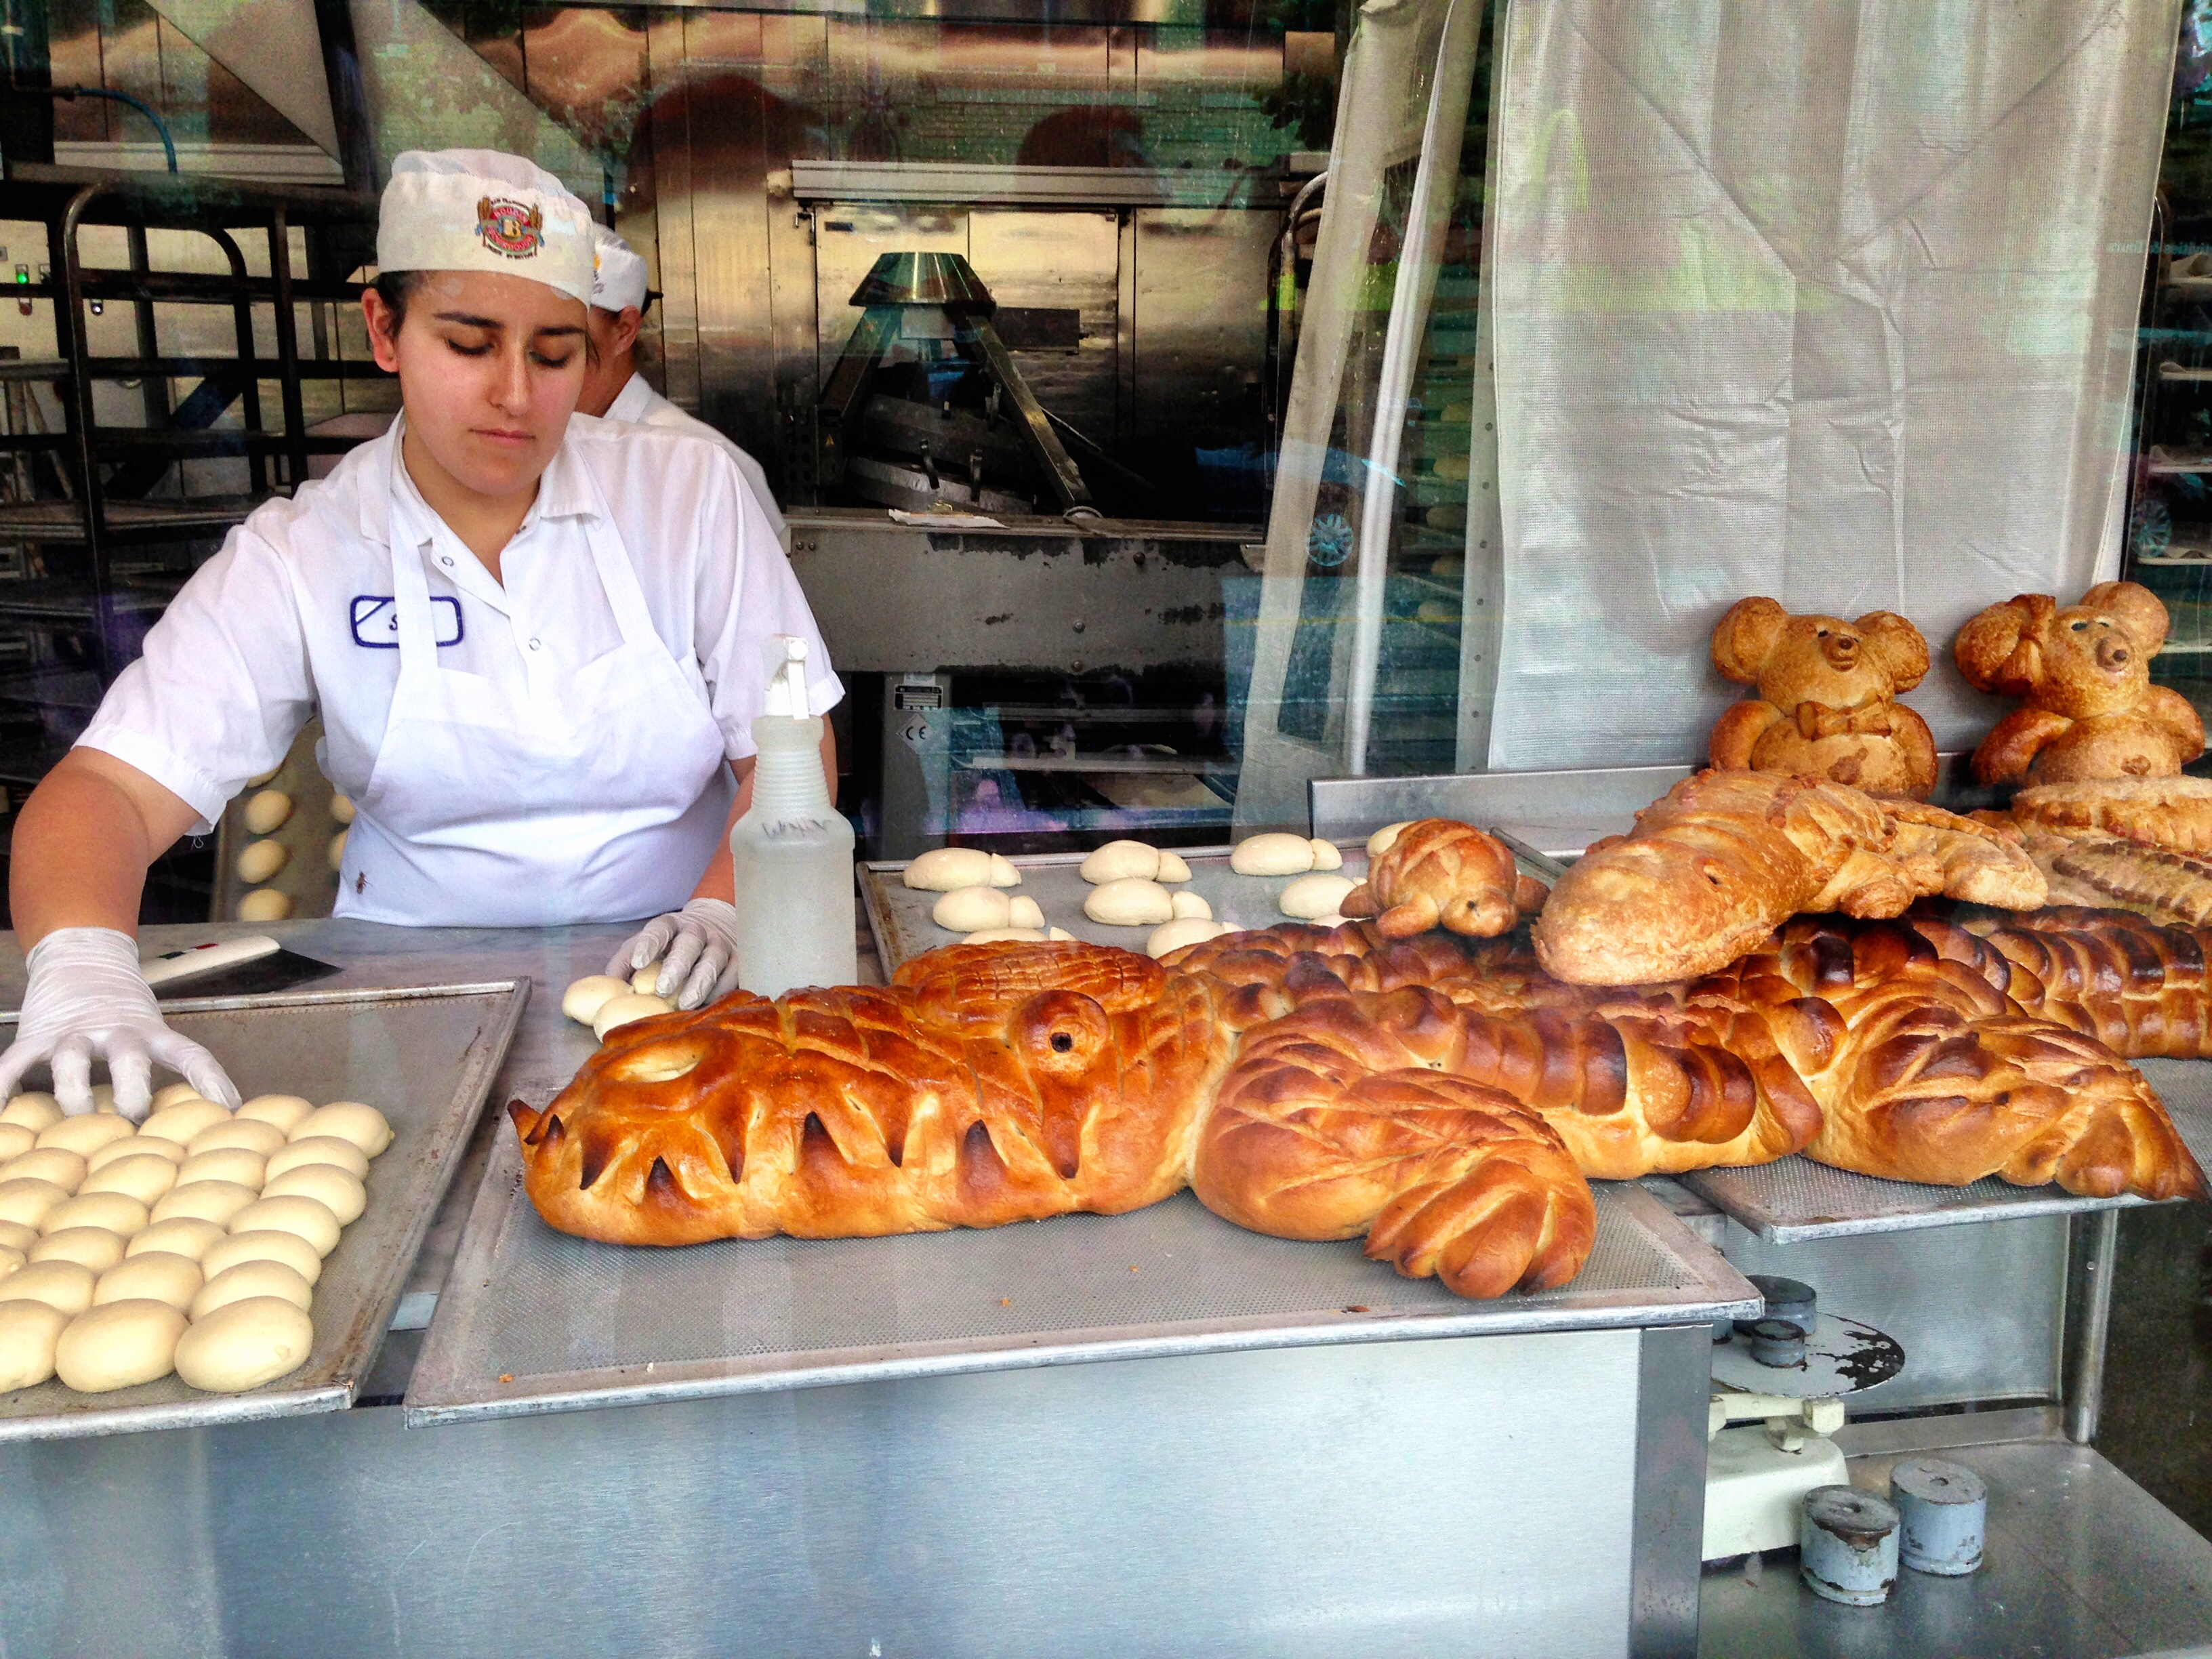
[[(568, 717), (568, 690), (591, 681), (591, 664), (624, 648), (615, 599), (595, 564), (595, 531), (602, 546), (619, 540), (635, 573), (641, 624), (630, 633), (650, 633), (646, 646), (657, 639), (697, 686), (728, 757), (754, 752), (750, 723), (761, 710), (763, 646), (772, 635), (807, 641), (812, 712), (843, 697), (790, 564), (719, 445), (672, 427), (575, 418), (500, 555), (502, 586), (398, 465), (403, 425), (354, 449), (327, 480), (259, 507), (237, 526), (146, 635), (144, 657), (117, 677), (80, 739), (181, 796), (201, 816), (197, 834), (212, 827), (246, 779), (283, 759), (314, 712), (325, 730), (323, 772), (356, 803), (372, 799), (400, 679), (396, 557), (420, 562), (436, 668), (467, 688), (465, 706), (476, 701), (487, 730)], [(394, 546), (396, 524), (425, 529), (414, 546)], [(699, 787), (726, 803), (728, 768), (710, 770), (717, 776)], [(568, 816), (606, 812), (615, 825), (630, 805), (573, 801)], [(684, 845), (670, 843), (664, 860), (688, 867), (666, 869), (655, 891), (602, 896), (582, 909), (560, 894), (529, 902), (557, 920), (619, 920), (681, 902), (721, 832), (710, 805), (701, 794)], [(701, 841), (708, 818), (714, 823)], [(451, 801), (451, 823), (453, 841), (531, 845), (526, 818), (484, 823), (462, 792)], [(622, 834), (639, 832), (628, 823)], [(352, 887), (347, 880), (341, 891), (341, 916), (449, 920), (380, 911), (378, 896)], [(487, 922), (518, 920), (491, 896), (462, 891), (453, 902)]]

